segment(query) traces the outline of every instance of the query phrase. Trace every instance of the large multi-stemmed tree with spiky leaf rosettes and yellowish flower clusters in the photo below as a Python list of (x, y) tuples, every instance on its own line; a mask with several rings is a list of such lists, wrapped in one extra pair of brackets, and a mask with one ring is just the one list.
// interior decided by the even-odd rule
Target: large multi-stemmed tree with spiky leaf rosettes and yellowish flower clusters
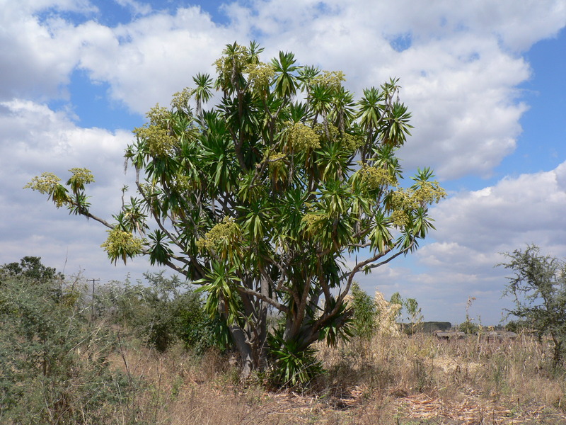
[(434, 229), (428, 206), (445, 195), (428, 168), (401, 186), (395, 153), (411, 125), (397, 79), (354, 101), (341, 72), (301, 67), (291, 52), (260, 62), (261, 52), (226, 45), (215, 62), (220, 100), (202, 120), (189, 103), (198, 94), (200, 111), (208, 76), (149, 111), (125, 152), (137, 195), (112, 224), (91, 213), (86, 169), (71, 169), (66, 185), (43, 174), (27, 186), (108, 227), (110, 260), (146, 255), (202, 285), (243, 375), (270, 359), (268, 307), (284, 322), (272, 340), (297, 353), (337, 341), (354, 276), (415, 251)]

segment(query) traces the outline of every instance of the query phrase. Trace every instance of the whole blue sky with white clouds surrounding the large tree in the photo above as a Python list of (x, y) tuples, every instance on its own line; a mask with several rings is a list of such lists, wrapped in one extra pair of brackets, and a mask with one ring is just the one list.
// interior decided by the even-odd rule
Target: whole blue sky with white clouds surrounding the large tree
[(566, 257), (566, 4), (562, 0), (0, 0), (0, 263), (41, 256), (65, 273), (141, 278), (110, 265), (105, 229), (22, 188), (92, 169), (93, 212), (120, 207), (122, 153), (155, 103), (190, 85), (226, 43), (258, 40), (341, 69), (357, 94), (400, 77), (410, 174), (432, 166), (449, 197), (417, 254), (359, 280), (415, 297), (424, 319), (496, 324), (499, 253), (527, 243)]

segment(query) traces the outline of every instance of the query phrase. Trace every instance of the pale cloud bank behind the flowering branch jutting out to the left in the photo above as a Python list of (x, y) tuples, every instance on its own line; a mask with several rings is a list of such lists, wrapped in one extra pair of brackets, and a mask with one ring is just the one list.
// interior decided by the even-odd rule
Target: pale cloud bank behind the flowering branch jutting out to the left
[(120, 189), (125, 183), (132, 185), (132, 176), (123, 173), (122, 161), (131, 133), (79, 128), (67, 115), (44, 104), (14, 100), (0, 103), (0, 140), (1, 263), (40, 256), (58, 270), (83, 270), (106, 280), (121, 280), (128, 272), (141, 277), (149, 269), (143, 259), (128, 268), (110, 266), (100, 248), (106, 238), (103, 226), (69, 216), (40, 193), (23, 190), (43, 171), (54, 172), (66, 181), (68, 169), (86, 167), (96, 179), (88, 190), (92, 212), (112, 221), (112, 213), (120, 208)]

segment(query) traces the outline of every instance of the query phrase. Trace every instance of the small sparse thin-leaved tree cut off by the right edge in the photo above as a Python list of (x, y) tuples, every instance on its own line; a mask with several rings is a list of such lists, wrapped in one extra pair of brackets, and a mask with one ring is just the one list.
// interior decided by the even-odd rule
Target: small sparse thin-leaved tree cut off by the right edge
[(550, 335), (554, 342), (554, 362), (558, 364), (566, 349), (566, 263), (541, 254), (536, 245), (524, 251), (504, 253), (509, 261), (499, 263), (514, 271), (508, 277), (504, 295), (514, 298), (515, 308), (507, 310), (521, 322), (526, 322), (539, 339)]

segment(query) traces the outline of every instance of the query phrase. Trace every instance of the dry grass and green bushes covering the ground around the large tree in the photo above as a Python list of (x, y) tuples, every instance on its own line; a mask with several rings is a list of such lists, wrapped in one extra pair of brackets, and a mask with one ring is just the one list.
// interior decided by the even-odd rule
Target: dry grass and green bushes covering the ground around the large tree
[(395, 333), (354, 285), (352, 336), (315, 344), (306, 382), (286, 368), (241, 382), (226, 333), (177, 278), (91, 295), (35, 257), (0, 268), (0, 423), (566, 423), (565, 364), (525, 327), (497, 341), (479, 325), (450, 341)]

